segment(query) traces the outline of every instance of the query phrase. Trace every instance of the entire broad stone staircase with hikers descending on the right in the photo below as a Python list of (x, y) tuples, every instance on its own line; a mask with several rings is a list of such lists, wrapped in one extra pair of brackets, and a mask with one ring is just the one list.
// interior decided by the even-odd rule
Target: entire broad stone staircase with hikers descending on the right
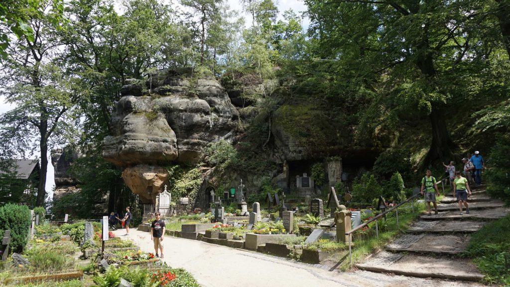
[[(510, 214), (503, 202), (491, 199), (484, 189), (468, 198), (470, 214), (460, 215), (452, 197), (438, 204), (438, 215), (422, 215), (385, 250), (357, 264), (362, 270), (411, 277), (478, 281), (483, 275), (471, 259), (456, 255), (466, 250), (470, 233), (490, 220)], [(433, 214), (433, 213), (432, 213)]]

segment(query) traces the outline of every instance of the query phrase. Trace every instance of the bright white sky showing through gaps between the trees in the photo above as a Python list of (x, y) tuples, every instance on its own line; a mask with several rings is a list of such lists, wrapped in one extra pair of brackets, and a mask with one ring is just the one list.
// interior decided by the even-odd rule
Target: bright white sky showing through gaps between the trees
[[(227, 0), (228, 5), (232, 10), (239, 11), (241, 16), (244, 16), (245, 19), (249, 19), (249, 15), (244, 13), (242, 11), (242, 5), (239, 0)], [(292, 9), (296, 14), (300, 15), (300, 12), (306, 11), (307, 6), (304, 4), (301, 0), (276, 0), (276, 5), (278, 6), (279, 10), (279, 17), (278, 19), (282, 19), (282, 15), (286, 10)], [(118, 8), (118, 7), (116, 7)], [(246, 25), (250, 25), (251, 21), (245, 21)], [(309, 21), (308, 19), (303, 19), (303, 27), (308, 27)], [(5, 102), (5, 97), (3, 95), (0, 95), (0, 114), (3, 114), (7, 111), (10, 111), (14, 109), (15, 106), (11, 105), (10, 103)], [(37, 156), (37, 154), (34, 155), (34, 157)], [(51, 163), (51, 159), (48, 159), (48, 172), (46, 174), (46, 192), (48, 193), (49, 197), (53, 197), (53, 188), (55, 187), (55, 169), (53, 168), (53, 165)]]

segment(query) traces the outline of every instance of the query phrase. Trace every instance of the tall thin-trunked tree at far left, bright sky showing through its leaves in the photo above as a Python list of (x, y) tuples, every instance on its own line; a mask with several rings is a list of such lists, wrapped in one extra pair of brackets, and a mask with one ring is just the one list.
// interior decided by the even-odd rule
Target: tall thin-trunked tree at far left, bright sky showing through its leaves
[[(46, 2), (49, 3), (49, 2)], [(73, 121), (73, 102), (79, 96), (78, 79), (58, 62), (60, 42), (55, 32), (59, 11), (32, 11), (27, 14), (34, 37), (22, 37), (9, 47), (8, 61), (0, 81), (7, 102), (16, 106), (0, 118), (11, 148), (23, 151), (39, 149), (41, 169), (37, 206), (44, 203), (48, 148), (69, 134)], [(35, 140), (34, 140), (35, 139)]]

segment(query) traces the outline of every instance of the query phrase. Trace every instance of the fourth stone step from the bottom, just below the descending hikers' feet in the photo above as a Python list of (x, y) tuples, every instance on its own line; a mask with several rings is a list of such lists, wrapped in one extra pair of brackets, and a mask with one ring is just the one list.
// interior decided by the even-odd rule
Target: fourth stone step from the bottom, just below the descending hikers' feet
[[(458, 208), (458, 207), (457, 207)], [(422, 220), (495, 220), (510, 214), (510, 207), (496, 207), (484, 210), (471, 210), (470, 214), (460, 215), (458, 210), (440, 212), (438, 215), (422, 215)]]

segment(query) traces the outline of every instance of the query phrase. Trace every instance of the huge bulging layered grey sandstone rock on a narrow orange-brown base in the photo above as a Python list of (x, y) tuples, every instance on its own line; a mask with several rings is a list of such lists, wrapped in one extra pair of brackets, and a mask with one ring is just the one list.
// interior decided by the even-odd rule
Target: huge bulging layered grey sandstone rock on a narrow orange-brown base
[[(167, 181), (162, 166), (197, 163), (204, 149), (237, 136), (239, 112), (214, 79), (191, 81), (162, 70), (148, 80), (129, 80), (112, 116), (113, 134), (103, 142), (105, 160), (126, 168), (125, 183), (143, 201), (154, 201)], [(141, 95), (147, 91), (145, 95)]]

